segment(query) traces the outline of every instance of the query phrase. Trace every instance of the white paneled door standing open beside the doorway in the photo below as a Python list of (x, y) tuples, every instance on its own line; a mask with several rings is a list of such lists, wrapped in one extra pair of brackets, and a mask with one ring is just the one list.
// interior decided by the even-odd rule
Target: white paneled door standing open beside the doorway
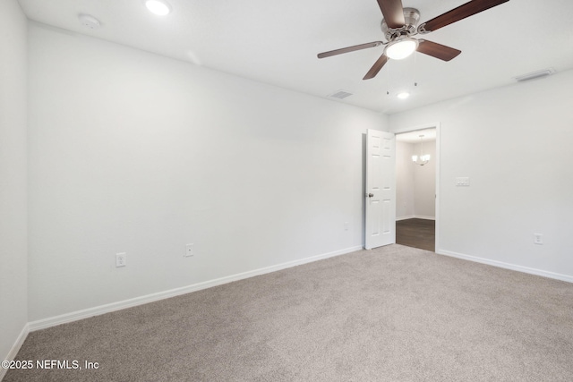
[(366, 139), (366, 237), (364, 248), (396, 242), (396, 138), (368, 130)]

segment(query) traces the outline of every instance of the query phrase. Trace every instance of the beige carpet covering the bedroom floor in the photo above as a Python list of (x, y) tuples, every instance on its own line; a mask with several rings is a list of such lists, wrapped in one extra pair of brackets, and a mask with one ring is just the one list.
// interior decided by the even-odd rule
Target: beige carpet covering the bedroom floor
[[(89, 293), (89, 292), (87, 292)], [(573, 284), (391, 245), (30, 333), (9, 381), (572, 381)]]

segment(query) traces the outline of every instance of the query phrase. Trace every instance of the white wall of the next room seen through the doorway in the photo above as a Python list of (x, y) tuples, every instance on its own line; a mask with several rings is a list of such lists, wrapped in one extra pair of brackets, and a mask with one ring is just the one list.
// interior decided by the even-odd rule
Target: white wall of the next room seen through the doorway
[(396, 216), (397, 219), (435, 218), (436, 141), (423, 142), (423, 154), (432, 159), (424, 166), (415, 165), (412, 156), (420, 155), (420, 143), (397, 141)]

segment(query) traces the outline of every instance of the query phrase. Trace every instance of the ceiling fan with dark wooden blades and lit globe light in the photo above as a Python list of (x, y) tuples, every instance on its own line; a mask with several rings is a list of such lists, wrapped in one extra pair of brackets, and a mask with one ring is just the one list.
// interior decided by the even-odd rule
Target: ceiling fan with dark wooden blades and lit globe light
[(454, 8), (447, 13), (440, 14), (440, 16), (434, 17), (432, 20), (418, 25), (420, 12), (417, 9), (404, 8), (402, 6), (402, 0), (378, 0), (382, 15), (384, 16), (381, 29), (387, 42), (373, 41), (366, 44), (355, 45), (354, 47), (343, 47), (341, 49), (320, 53), (318, 57), (324, 58), (369, 47), (384, 46), (384, 53), (382, 53), (378, 61), (372, 65), (372, 68), (366, 73), (363, 80), (374, 78), (389, 59), (400, 60), (415, 51), (423, 53), (424, 55), (432, 55), (432, 57), (439, 58), (443, 61), (449, 61), (462, 53), (461, 50), (446, 47), (423, 38), (413, 38), (413, 36), (439, 30), (453, 22), (460, 21), (475, 13), (483, 12), (507, 2), (509, 2), (509, 0), (472, 0), (469, 3), (460, 5), (458, 8)]

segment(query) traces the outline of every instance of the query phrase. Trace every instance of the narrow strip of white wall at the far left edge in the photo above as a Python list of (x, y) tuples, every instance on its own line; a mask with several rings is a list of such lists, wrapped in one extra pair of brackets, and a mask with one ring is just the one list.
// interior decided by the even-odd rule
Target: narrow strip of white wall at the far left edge
[(28, 322), (26, 35), (20, 5), (0, 1), (0, 360)]

